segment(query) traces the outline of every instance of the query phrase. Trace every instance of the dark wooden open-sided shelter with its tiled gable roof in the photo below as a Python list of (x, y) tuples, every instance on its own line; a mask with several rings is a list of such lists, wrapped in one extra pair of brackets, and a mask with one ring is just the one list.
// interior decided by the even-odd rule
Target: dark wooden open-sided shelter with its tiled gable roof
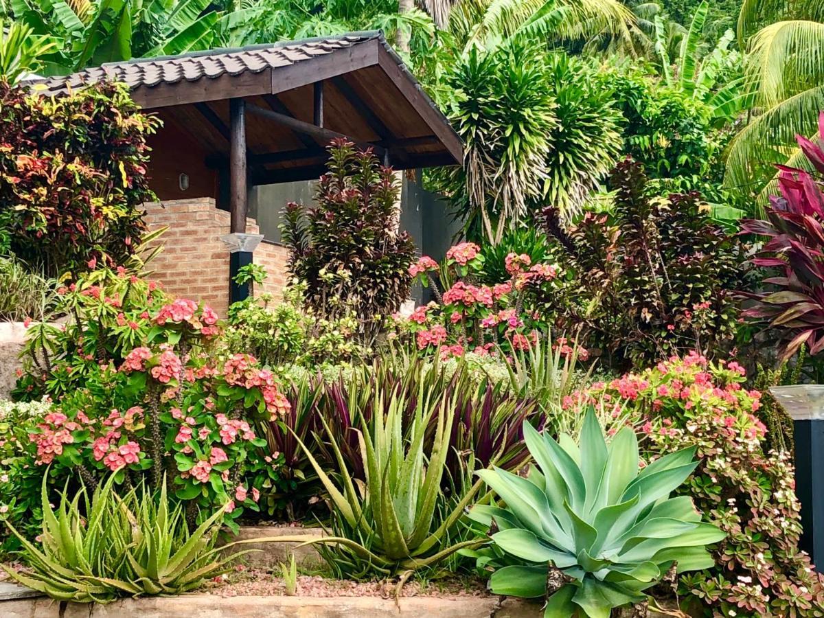
[(377, 31), (110, 63), (35, 87), (101, 79), (164, 122), (150, 141), (158, 198), (213, 197), (232, 232), (246, 231), (250, 186), (317, 178), (332, 138), (401, 170), (461, 163), (460, 138)]

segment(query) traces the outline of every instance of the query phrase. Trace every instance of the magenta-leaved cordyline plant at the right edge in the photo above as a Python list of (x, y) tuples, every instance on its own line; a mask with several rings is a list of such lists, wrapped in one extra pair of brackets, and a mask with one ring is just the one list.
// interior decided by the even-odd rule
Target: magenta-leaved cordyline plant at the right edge
[[(824, 112), (818, 125), (816, 142), (801, 135), (796, 138), (812, 169), (824, 175)], [(764, 279), (770, 291), (744, 293), (755, 303), (743, 315), (767, 321), (780, 332), (784, 358), (802, 345), (814, 355), (824, 349), (822, 180), (809, 171), (779, 166), (778, 187), (780, 194), (770, 196), (766, 219), (742, 224), (742, 232), (768, 238), (753, 263), (779, 271)]]

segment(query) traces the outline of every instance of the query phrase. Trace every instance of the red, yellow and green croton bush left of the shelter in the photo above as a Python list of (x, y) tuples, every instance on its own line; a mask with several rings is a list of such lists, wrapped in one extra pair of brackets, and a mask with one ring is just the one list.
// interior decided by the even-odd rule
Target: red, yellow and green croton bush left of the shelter
[(0, 238), (51, 276), (124, 264), (146, 231), (157, 126), (122, 85), (51, 99), (0, 81)]

